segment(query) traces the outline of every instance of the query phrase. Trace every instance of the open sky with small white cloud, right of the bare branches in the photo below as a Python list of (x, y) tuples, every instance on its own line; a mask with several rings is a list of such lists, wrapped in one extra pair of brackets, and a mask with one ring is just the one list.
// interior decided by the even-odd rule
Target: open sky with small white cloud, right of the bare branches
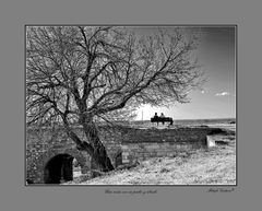
[[(236, 118), (236, 51), (233, 26), (201, 27), (196, 51), (207, 82), (189, 93), (191, 102), (169, 108), (145, 105), (136, 109), (136, 120), (150, 120), (155, 113), (174, 119)], [(151, 30), (143, 28), (150, 33)], [(142, 115), (143, 114), (143, 115)]]

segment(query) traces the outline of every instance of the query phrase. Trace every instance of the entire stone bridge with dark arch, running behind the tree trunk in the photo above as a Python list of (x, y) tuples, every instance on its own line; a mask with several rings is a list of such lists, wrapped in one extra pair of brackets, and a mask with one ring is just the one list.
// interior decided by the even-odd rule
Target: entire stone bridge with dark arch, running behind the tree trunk
[[(100, 139), (115, 167), (155, 156), (175, 156), (206, 145), (206, 136), (221, 129), (209, 127), (135, 129), (100, 127)], [(85, 140), (83, 131), (74, 131)], [(73, 166), (85, 174), (91, 157), (79, 151), (62, 128), (28, 128), (26, 132), (26, 179), (34, 184), (59, 184), (73, 179)]]

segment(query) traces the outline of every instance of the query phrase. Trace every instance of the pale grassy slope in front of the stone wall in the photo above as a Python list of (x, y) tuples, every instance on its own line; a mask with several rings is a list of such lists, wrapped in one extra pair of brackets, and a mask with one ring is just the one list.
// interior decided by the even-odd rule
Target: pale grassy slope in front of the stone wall
[(236, 185), (236, 138), (214, 138), (217, 145), (212, 149), (155, 157), (93, 179), (82, 175), (63, 185)]

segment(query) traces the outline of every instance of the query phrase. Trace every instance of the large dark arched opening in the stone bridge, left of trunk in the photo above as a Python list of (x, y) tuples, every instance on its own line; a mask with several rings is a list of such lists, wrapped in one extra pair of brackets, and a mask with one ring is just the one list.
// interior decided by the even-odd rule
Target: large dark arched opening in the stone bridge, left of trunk
[(61, 180), (73, 180), (73, 156), (58, 154), (50, 159), (44, 172), (45, 184), (60, 184)]

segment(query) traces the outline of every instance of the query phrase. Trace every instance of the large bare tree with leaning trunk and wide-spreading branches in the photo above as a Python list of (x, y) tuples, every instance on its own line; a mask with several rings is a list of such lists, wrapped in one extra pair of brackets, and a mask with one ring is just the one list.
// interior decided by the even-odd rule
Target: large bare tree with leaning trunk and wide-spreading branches
[[(111, 171), (100, 120), (132, 116), (140, 105), (188, 102), (202, 82), (195, 37), (184, 28), (26, 27), (26, 121), (63, 125), (79, 150)], [(86, 136), (72, 129), (80, 125)]]

